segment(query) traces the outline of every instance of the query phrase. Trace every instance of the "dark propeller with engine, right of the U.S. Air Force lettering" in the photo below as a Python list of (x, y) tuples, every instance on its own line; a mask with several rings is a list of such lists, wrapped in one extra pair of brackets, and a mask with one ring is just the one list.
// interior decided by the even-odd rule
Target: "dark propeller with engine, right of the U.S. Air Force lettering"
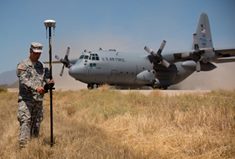
[(170, 66), (170, 63), (162, 57), (162, 50), (164, 49), (165, 45), (166, 41), (163, 40), (157, 52), (154, 52), (152, 49), (150, 49), (147, 46), (144, 47), (144, 50), (150, 54), (148, 58), (151, 63), (157, 63), (157, 64), (160, 63), (166, 68), (168, 68)]

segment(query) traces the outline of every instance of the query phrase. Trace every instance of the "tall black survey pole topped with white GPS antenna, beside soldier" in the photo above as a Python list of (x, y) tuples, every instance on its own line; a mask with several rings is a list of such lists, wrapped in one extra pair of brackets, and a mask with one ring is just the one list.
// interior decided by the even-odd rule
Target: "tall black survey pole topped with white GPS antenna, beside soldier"
[[(52, 46), (51, 46), (51, 30), (53, 28), (53, 30), (55, 30), (55, 24), (56, 22), (54, 20), (45, 20), (44, 21), (44, 25), (46, 27), (46, 31), (47, 29), (49, 30), (49, 72), (50, 72), (50, 80), (52, 79), (52, 64), (51, 64), (51, 60), (52, 60)], [(50, 90), (50, 129), (51, 129), (51, 147), (54, 144), (54, 137), (53, 137), (53, 94), (52, 94), (52, 87), (49, 87)]]

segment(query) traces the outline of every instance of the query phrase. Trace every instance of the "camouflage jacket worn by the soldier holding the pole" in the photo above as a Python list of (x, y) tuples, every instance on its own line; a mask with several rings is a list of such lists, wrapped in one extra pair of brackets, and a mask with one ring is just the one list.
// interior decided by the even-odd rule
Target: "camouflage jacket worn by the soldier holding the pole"
[(19, 100), (42, 101), (43, 94), (36, 91), (49, 81), (48, 69), (38, 61), (35, 64), (28, 58), (17, 65), (16, 74), (19, 78)]

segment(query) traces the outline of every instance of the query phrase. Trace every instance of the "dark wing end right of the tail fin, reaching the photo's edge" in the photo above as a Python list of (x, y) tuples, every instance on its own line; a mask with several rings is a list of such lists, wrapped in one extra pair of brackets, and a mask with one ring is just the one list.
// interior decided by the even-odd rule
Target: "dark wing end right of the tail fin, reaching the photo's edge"
[(215, 50), (215, 63), (235, 62), (235, 49), (219, 49)]

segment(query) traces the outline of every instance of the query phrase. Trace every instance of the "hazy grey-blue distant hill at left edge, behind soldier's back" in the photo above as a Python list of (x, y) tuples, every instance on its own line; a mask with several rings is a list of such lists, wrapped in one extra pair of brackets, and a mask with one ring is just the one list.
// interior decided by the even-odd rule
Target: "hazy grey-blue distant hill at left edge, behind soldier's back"
[(12, 85), (17, 81), (16, 71), (6, 71), (0, 73), (0, 85)]

